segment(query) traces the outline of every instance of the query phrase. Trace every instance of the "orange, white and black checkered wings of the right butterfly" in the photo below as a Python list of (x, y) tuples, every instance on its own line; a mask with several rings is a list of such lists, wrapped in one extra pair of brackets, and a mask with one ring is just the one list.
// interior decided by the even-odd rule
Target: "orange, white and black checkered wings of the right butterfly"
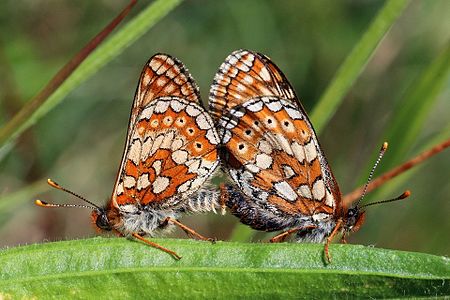
[(225, 169), (249, 206), (275, 215), (331, 215), (339, 187), (314, 129), (283, 73), (269, 58), (238, 50), (210, 91)]

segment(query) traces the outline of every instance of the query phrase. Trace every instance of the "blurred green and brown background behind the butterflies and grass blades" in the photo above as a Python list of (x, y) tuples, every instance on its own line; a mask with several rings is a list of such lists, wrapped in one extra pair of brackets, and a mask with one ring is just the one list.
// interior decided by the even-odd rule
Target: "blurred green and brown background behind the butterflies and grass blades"
[[(9, 120), (127, 3), (124, 0), (4, 0), (0, 2), (0, 124)], [(43, 209), (34, 199), (78, 203), (68, 194), (37, 186), (52, 178), (102, 204), (109, 198), (122, 155), (129, 111), (143, 64), (156, 52), (182, 60), (206, 103), (213, 76), (233, 50), (248, 48), (273, 59), (308, 112), (384, 1), (185, 1), (105, 68), (81, 84), (56, 109), (0, 151), (0, 247), (74, 239), (95, 234), (90, 211)], [(141, 1), (132, 16), (147, 5)], [(412, 1), (383, 39), (346, 95), (320, 141), (343, 193), (364, 182), (373, 152), (427, 66), (448, 46), (450, 1)], [(420, 134), (400, 160), (413, 157), (436, 137), (449, 137), (449, 81), (433, 101)], [(419, 108), (418, 108), (419, 109)], [(411, 111), (411, 122), (418, 111)], [(1, 126), (1, 125), (0, 125)], [(390, 140), (390, 148), (396, 141)], [(371, 207), (351, 243), (449, 255), (450, 155), (425, 162), (365, 201), (412, 196)], [(407, 175), (407, 174), (406, 174)], [(215, 179), (218, 183), (221, 178)], [(13, 195), (13, 196), (12, 196)], [(182, 219), (200, 233), (229, 239), (239, 227), (231, 215)], [(245, 233), (245, 231), (244, 231)], [(183, 237), (176, 231), (172, 236)], [(243, 239), (244, 235), (237, 239)], [(267, 235), (251, 235), (253, 241)]]

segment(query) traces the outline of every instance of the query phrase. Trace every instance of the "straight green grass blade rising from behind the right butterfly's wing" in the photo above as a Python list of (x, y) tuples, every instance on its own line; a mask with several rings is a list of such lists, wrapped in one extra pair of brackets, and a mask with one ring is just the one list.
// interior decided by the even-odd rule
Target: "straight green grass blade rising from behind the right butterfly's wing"
[(409, 0), (388, 0), (367, 31), (339, 67), (332, 82), (317, 102), (311, 120), (318, 134), (336, 112), (345, 94), (369, 62), (380, 41), (403, 12)]

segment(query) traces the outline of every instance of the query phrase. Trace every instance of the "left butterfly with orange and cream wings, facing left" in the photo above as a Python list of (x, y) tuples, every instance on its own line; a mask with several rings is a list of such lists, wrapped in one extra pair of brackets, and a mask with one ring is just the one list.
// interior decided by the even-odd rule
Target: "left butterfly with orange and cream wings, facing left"
[(206, 240), (177, 218), (218, 207), (218, 192), (205, 188), (219, 165), (218, 143), (214, 122), (188, 70), (176, 58), (156, 54), (139, 79), (122, 161), (106, 206), (99, 207), (51, 180), (51, 186), (90, 205), (40, 200), (36, 204), (92, 208), (93, 223), (100, 230), (133, 236), (180, 258), (144, 236), (177, 225), (189, 236)]

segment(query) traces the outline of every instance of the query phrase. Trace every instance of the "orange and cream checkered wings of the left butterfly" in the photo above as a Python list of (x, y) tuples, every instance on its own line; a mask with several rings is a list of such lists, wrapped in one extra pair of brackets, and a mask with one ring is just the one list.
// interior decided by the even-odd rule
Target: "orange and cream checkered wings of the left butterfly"
[(112, 205), (181, 203), (217, 168), (218, 143), (189, 72), (169, 55), (154, 55), (137, 87)]

